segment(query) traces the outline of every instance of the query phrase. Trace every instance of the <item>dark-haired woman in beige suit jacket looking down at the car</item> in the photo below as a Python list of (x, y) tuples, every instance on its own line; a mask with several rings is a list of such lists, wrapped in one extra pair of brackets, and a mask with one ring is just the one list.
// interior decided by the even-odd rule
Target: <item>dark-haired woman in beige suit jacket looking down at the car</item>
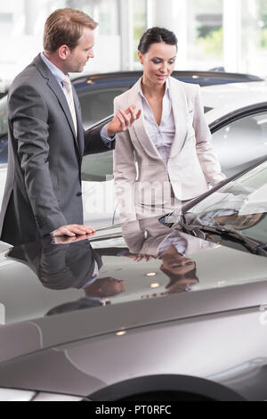
[(121, 222), (177, 209), (205, 193), (207, 180), (216, 185), (225, 178), (200, 87), (170, 77), (176, 54), (173, 32), (148, 29), (138, 47), (142, 78), (114, 100), (115, 113), (131, 103), (142, 111), (132, 127), (117, 135), (114, 177)]

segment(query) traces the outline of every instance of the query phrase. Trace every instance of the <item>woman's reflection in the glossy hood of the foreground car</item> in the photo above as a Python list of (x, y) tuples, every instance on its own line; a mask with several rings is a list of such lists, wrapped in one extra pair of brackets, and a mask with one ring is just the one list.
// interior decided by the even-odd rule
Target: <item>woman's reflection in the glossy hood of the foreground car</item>
[[(214, 249), (214, 243), (170, 229), (160, 224), (158, 217), (143, 218), (138, 223), (129, 224), (131, 226), (126, 229), (124, 239), (135, 260), (141, 261), (143, 257), (161, 260), (159, 270), (170, 280), (164, 294), (190, 291), (191, 286), (198, 283), (196, 262), (192, 255)], [(125, 226), (122, 227), (125, 231)], [(148, 297), (158, 294), (162, 295), (162, 292), (153, 292)]]

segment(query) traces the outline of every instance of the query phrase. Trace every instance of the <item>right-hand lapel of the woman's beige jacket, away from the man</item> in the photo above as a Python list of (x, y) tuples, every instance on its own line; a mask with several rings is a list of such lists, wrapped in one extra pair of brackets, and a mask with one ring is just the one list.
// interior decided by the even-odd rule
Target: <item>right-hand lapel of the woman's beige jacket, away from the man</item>
[(169, 82), (175, 123), (175, 136), (170, 157), (174, 157), (181, 152), (187, 134), (188, 104), (181, 83), (174, 78), (169, 78)]

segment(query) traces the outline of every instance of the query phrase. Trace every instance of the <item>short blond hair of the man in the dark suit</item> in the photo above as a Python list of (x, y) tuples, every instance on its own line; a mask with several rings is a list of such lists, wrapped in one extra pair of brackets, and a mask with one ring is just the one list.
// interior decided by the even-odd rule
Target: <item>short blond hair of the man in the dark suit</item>
[(98, 23), (86, 13), (65, 8), (53, 12), (44, 26), (44, 51), (54, 53), (61, 45), (71, 50), (77, 46), (84, 28), (95, 29)]

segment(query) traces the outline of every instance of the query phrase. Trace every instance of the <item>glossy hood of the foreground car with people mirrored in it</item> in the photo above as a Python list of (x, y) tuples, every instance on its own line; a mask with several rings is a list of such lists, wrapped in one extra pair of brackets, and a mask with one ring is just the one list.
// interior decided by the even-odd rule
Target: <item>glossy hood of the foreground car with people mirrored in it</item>
[[(1, 359), (122, 328), (263, 303), (267, 259), (159, 223), (155, 234), (150, 227), (146, 234), (102, 232), (91, 241), (54, 244), (47, 238), (8, 253), (0, 249), (2, 323), (8, 325), (0, 328), (7, 345)], [(16, 333), (29, 339), (11, 348)]]

